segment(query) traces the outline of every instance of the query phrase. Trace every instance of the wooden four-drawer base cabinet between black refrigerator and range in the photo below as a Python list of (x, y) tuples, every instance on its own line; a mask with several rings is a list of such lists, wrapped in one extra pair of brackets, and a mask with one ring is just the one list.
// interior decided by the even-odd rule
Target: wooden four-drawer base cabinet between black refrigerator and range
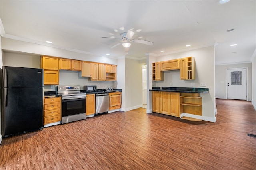
[(61, 120), (61, 97), (44, 98), (44, 125)]

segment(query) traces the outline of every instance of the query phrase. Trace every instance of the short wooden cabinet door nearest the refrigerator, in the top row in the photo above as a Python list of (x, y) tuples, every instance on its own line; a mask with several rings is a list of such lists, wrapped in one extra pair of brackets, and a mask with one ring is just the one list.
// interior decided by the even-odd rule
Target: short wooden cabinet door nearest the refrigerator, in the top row
[(58, 70), (59, 59), (57, 57), (41, 56), (41, 67), (46, 70)]

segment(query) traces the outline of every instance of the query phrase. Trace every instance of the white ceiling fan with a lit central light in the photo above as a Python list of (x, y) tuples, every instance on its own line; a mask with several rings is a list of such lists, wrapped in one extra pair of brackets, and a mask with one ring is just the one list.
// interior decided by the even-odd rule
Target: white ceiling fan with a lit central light
[[(114, 38), (114, 39), (118, 39), (120, 40), (121, 42), (114, 45), (113, 47), (111, 48), (114, 48), (120, 44), (123, 45), (123, 47), (125, 48), (125, 52), (128, 52), (129, 50), (129, 47), (132, 45), (130, 42), (136, 42), (136, 43), (143, 43), (143, 44), (146, 44), (146, 45), (153, 45), (153, 42), (150, 42), (150, 41), (147, 41), (147, 40), (140, 40), (140, 39), (132, 39), (132, 36), (134, 35), (135, 33), (132, 32), (131, 30), (128, 30), (128, 32), (123, 32), (120, 34), (121, 36), (121, 39), (118, 39), (118, 38)], [(112, 38), (112, 37), (102, 37), (102, 38)]]

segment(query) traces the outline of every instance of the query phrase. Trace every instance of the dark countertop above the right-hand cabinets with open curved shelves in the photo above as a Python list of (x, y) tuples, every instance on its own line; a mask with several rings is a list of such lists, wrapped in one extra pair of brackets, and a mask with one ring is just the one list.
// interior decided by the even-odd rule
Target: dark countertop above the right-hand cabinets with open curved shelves
[(183, 93), (209, 93), (208, 88), (190, 88), (190, 87), (152, 87), (150, 91), (174, 91)]

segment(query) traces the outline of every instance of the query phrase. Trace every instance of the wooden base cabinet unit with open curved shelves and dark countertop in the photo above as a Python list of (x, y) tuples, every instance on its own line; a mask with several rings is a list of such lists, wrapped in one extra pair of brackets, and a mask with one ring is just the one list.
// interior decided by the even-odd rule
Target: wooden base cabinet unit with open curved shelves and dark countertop
[(188, 119), (202, 120), (202, 97), (208, 88), (152, 87), (152, 111)]

